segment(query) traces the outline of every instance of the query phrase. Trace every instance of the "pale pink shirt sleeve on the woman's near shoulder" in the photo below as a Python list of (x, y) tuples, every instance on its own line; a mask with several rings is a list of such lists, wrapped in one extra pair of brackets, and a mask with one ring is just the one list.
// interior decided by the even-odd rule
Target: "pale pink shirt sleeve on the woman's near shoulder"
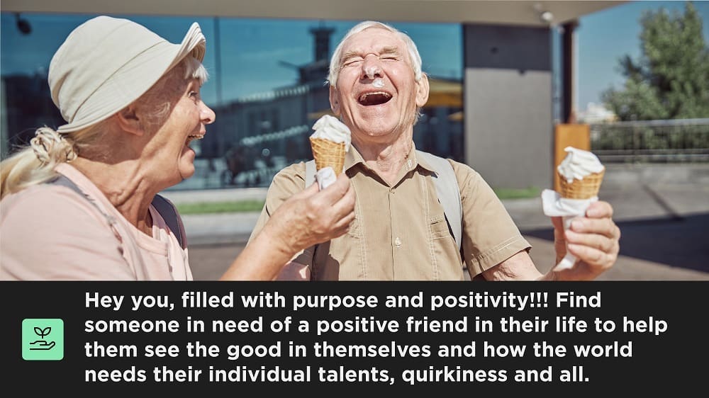
[(0, 236), (4, 280), (135, 280), (106, 217), (65, 187), (4, 199)]

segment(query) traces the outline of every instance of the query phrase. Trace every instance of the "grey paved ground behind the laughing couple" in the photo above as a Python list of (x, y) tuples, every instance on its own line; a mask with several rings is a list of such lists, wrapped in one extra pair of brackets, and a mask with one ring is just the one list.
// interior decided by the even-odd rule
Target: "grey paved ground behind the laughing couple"
[[(266, 188), (166, 192), (175, 203), (264, 198)], [(609, 165), (599, 194), (615, 209), (620, 257), (599, 280), (709, 280), (709, 164)], [(504, 200), (541, 271), (553, 265), (552, 228), (540, 198)], [(218, 278), (242, 249), (258, 213), (186, 215), (195, 278)]]

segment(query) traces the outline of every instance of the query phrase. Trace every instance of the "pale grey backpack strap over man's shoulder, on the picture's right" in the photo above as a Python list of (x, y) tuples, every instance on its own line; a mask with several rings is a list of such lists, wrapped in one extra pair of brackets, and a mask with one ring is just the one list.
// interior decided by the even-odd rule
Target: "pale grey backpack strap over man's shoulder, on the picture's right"
[(435, 171), (433, 183), (436, 187), (438, 201), (443, 206), (448, 228), (455, 239), (455, 243), (458, 245), (458, 249), (460, 249), (463, 207), (460, 203), (460, 189), (458, 188), (458, 180), (455, 178), (453, 166), (447, 159), (437, 157), (428, 152), (417, 150), (416, 156), (419, 159), (424, 159)]

